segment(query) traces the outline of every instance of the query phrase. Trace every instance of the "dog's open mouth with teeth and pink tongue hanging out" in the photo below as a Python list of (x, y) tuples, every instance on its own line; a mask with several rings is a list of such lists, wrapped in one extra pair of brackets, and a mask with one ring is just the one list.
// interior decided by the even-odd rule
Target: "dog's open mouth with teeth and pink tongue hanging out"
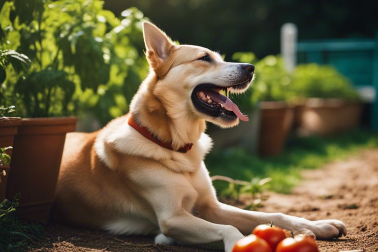
[[(248, 122), (248, 116), (243, 115), (238, 106), (227, 95), (230, 89), (244, 89), (248, 84), (249, 81), (229, 87), (220, 87), (209, 83), (200, 84), (195, 87), (191, 99), (198, 111), (209, 116), (221, 117), (225, 121), (234, 121), (239, 118), (244, 122)], [(226, 95), (222, 95), (221, 91), (225, 91)]]

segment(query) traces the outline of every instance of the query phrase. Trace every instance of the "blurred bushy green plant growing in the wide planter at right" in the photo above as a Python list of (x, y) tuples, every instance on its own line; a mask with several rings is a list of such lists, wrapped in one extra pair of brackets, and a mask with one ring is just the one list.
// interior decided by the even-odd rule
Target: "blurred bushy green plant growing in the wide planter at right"
[(296, 96), (358, 99), (350, 81), (333, 66), (302, 64), (294, 69), (293, 76), (290, 89)]

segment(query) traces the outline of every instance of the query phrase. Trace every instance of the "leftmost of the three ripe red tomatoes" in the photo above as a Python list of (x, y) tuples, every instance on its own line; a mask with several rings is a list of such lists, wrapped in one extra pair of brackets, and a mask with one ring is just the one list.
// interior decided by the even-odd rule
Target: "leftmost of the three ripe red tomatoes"
[(264, 239), (252, 234), (237, 241), (232, 252), (272, 252), (272, 250)]

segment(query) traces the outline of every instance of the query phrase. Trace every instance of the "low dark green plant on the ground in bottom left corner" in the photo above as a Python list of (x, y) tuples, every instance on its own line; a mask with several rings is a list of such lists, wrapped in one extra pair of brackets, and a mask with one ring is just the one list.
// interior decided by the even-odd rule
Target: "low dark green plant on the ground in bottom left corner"
[(18, 193), (13, 202), (4, 199), (0, 203), (0, 251), (25, 251), (29, 243), (33, 243), (42, 235), (42, 226), (25, 224), (14, 216), (19, 199)]

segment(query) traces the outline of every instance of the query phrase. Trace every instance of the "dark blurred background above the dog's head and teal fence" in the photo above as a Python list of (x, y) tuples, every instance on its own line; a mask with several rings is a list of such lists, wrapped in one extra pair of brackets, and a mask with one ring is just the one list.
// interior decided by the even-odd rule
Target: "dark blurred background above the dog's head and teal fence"
[(120, 15), (137, 7), (173, 39), (225, 54), (254, 52), (261, 59), (280, 53), (280, 30), (294, 23), (298, 38), (374, 38), (375, 1), (300, 0), (106, 0)]

